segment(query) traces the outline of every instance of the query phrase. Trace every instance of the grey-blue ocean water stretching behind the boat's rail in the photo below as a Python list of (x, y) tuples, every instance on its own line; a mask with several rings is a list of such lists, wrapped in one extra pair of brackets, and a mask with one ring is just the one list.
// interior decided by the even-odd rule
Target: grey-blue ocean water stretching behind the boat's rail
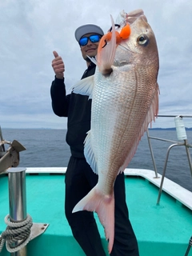
[[(192, 144), (192, 130), (186, 130), (186, 134), (188, 142)], [(7, 141), (12, 142), (15, 139), (26, 147), (26, 150), (20, 153), (19, 166), (67, 166), (70, 158), (70, 148), (65, 142), (66, 130), (2, 129), (2, 135)], [(178, 141), (175, 130), (150, 130), (150, 137)], [(162, 174), (166, 160), (166, 151), (171, 144), (173, 143), (151, 139), (159, 174)], [(192, 149), (190, 148), (190, 155), (192, 156), (191, 153)], [(146, 134), (142, 137), (138, 150), (128, 167), (154, 170)], [(175, 146), (170, 150), (166, 177), (192, 191), (192, 177), (185, 146)]]

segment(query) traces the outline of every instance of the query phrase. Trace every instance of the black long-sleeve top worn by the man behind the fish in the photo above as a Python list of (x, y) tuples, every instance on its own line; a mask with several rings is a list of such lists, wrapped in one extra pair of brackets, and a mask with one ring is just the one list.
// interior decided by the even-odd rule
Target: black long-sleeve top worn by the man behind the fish
[[(95, 65), (91, 63), (82, 75), (87, 78), (94, 74)], [(90, 130), (91, 100), (88, 96), (74, 94), (66, 95), (64, 79), (55, 78), (50, 87), (52, 108), (59, 117), (68, 117), (66, 142), (70, 146), (71, 154), (76, 158), (84, 158), (83, 142)]]

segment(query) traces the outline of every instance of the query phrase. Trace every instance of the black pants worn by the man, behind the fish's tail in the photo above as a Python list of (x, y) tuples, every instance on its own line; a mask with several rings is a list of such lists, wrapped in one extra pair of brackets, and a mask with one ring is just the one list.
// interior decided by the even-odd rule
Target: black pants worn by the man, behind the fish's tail
[[(66, 218), (74, 238), (86, 256), (105, 256), (98, 227), (92, 212), (83, 210), (72, 214), (74, 206), (96, 185), (98, 175), (86, 159), (70, 158), (66, 170)], [(119, 174), (114, 184), (114, 246), (111, 256), (138, 256), (138, 242), (130, 224), (126, 206), (124, 174)]]

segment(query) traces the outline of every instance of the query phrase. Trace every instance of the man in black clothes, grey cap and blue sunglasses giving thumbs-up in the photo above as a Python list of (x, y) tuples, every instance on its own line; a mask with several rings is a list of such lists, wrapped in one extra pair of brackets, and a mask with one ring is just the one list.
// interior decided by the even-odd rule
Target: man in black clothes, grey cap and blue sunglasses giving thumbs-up
[[(97, 54), (98, 43), (103, 31), (99, 26), (87, 24), (78, 27), (75, 38), (80, 45), (82, 58), (87, 69), (82, 79), (94, 74), (95, 65), (90, 58)], [(79, 211), (72, 214), (74, 206), (97, 184), (98, 175), (90, 169), (83, 154), (83, 142), (86, 132), (90, 130), (91, 100), (87, 96), (74, 94), (66, 95), (64, 84), (65, 66), (62, 58), (54, 51), (52, 66), (55, 79), (50, 93), (54, 114), (68, 117), (66, 142), (70, 145), (71, 157), (66, 170), (66, 218), (70, 224), (74, 238), (87, 256), (106, 255), (103, 248), (94, 214), (89, 211)], [(115, 227), (114, 247), (112, 256), (138, 256), (138, 243), (130, 224), (126, 206), (124, 174), (119, 174), (114, 184), (115, 198)]]

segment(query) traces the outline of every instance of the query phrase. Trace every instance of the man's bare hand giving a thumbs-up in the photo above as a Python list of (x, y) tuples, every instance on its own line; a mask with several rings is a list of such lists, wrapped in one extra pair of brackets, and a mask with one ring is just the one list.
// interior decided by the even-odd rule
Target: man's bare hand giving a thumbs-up
[(52, 67), (54, 69), (54, 73), (56, 78), (62, 79), (64, 78), (65, 65), (62, 61), (62, 57), (58, 56), (58, 53), (54, 50), (54, 60), (52, 61)]

